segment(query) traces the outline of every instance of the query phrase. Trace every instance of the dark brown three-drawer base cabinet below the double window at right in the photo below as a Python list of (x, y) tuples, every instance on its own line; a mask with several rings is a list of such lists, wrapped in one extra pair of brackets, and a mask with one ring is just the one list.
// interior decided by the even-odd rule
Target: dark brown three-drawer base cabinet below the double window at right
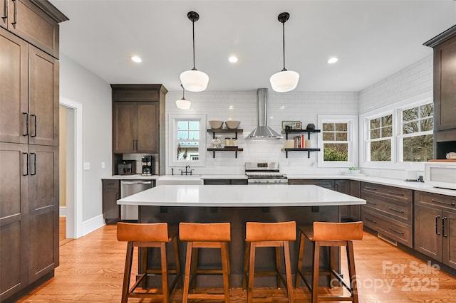
[(392, 241), (413, 247), (413, 191), (405, 188), (361, 182), (361, 218), (371, 228)]

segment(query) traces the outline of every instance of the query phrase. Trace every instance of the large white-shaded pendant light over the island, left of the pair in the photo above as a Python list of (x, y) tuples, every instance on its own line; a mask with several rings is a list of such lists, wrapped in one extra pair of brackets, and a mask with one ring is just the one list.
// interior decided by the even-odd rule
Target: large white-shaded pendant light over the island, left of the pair
[(189, 11), (187, 17), (192, 21), (193, 28), (193, 68), (180, 74), (180, 82), (190, 92), (202, 92), (209, 83), (209, 76), (195, 68), (195, 22), (199, 20), (199, 15), (195, 11)]

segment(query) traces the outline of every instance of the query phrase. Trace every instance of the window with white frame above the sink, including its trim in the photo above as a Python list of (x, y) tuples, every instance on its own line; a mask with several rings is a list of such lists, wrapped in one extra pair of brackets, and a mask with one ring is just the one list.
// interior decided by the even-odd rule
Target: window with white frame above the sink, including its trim
[(170, 166), (204, 166), (205, 115), (170, 115)]

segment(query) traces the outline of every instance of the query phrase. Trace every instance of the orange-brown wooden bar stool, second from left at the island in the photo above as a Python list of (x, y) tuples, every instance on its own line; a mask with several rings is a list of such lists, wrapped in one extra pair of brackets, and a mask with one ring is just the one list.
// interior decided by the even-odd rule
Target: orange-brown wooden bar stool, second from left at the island
[[(180, 223), (179, 238), (187, 241), (187, 257), (185, 260), (185, 280), (182, 303), (188, 299), (224, 299), (229, 302), (229, 252), (228, 243), (231, 240), (230, 223)], [(192, 255), (193, 248), (195, 253)], [(222, 270), (199, 270), (198, 249), (219, 248), (222, 255)], [(196, 275), (223, 275), (224, 294), (189, 294), (190, 282), (192, 289), (196, 287)]]

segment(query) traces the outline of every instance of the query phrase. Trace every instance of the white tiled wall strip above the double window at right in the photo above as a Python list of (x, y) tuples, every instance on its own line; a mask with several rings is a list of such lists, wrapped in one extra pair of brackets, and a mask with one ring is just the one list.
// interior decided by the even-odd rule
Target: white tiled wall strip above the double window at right
[(432, 55), (399, 70), (359, 93), (359, 114), (385, 105), (430, 92), (432, 86)]

